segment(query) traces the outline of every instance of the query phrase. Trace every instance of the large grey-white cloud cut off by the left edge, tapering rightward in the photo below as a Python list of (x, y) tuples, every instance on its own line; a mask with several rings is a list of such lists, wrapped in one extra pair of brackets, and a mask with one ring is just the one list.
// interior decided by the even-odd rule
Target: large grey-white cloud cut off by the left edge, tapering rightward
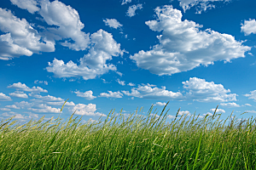
[(25, 19), (18, 19), (10, 10), (0, 8), (0, 59), (55, 51), (55, 42), (42, 38)]

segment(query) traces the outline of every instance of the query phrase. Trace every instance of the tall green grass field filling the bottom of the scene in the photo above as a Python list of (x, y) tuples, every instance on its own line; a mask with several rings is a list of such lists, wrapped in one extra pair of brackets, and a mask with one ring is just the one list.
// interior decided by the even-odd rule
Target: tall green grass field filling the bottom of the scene
[[(218, 106), (217, 106), (218, 107)], [(166, 107), (165, 107), (166, 108)], [(80, 123), (0, 124), (0, 168), (15, 169), (256, 169), (255, 119), (231, 115), (160, 117), (110, 111), (108, 119)], [(136, 114), (136, 116), (134, 115)], [(227, 124), (228, 123), (228, 124)]]

